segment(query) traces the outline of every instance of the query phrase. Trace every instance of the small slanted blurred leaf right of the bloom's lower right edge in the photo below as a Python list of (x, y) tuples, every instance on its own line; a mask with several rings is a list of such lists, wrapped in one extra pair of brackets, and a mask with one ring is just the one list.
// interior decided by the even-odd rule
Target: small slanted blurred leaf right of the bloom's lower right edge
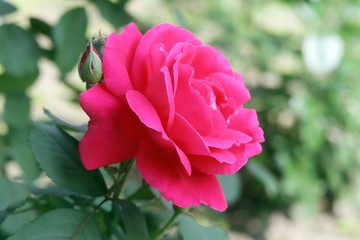
[(275, 176), (266, 169), (261, 163), (249, 161), (246, 164), (249, 172), (256, 177), (265, 187), (268, 194), (275, 194), (278, 191)]

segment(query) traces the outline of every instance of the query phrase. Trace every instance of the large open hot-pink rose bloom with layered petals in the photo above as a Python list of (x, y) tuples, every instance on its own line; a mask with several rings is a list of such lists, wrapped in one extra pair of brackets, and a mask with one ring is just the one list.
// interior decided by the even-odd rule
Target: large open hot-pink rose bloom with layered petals
[(241, 76), (215, 48), (160, 24), (108, 36), (103, 83), (81, 93), (90, 117), (80, 141), (87, 169), (133, 157), (140, 175), (178, 207), (224, 211), (217, 179), (261, 152), (263, 131)]

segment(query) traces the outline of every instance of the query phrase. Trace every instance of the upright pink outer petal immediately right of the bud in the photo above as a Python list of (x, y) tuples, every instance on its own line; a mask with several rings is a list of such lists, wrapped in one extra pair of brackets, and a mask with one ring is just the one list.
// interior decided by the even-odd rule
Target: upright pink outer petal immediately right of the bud
[(108, 36), (103, 51), (103, 71), (106, 87), (116, 96), (132, 89), (131, 64), (141, 39), (135, 24), (129, 24), (122, 33)]

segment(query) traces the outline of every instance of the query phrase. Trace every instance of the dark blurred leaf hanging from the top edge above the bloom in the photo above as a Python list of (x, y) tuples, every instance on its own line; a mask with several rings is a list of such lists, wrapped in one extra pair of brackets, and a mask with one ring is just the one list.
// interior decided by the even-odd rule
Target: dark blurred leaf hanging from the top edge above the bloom
[(108, 20), (114, 27), (119, 28), (132, 21), (132, 17), (125, 11), (127, 0), (90, 0), (101, 12), (101, 15)]

